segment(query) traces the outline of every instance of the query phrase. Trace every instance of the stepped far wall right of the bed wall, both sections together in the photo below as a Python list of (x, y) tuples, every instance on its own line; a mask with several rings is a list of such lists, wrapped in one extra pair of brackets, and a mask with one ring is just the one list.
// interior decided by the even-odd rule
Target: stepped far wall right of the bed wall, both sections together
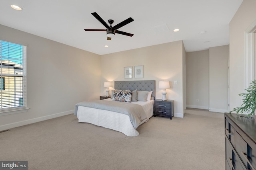
[(186, 107), (228, 111), (229, 45), (186, 54)]

